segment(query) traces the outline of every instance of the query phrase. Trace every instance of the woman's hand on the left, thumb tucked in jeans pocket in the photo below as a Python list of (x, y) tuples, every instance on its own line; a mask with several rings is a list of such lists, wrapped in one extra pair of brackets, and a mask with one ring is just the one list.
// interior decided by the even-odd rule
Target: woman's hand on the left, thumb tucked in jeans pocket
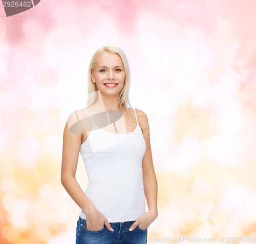
[(86, 213), (86, 225), (88, 230), (101, 230), (105, 225), (110, 231), (114, 231), (108, 219), (93, 204), (90, 204)]

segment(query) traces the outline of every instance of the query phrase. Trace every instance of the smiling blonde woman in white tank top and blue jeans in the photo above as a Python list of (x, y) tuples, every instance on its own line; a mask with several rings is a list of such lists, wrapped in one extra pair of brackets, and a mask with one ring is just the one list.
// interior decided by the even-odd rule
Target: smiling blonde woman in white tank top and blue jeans
[[(70, 115), (63, 133), (61, 183), (82, 210), (76, 243), (144, 244), (158, 214), (147, 116), (131, 108), (130, 69), (119, 47), (99, 48), (88, 75), (88, 106)], [(79, 152), (85, 193), (75, 178)]]

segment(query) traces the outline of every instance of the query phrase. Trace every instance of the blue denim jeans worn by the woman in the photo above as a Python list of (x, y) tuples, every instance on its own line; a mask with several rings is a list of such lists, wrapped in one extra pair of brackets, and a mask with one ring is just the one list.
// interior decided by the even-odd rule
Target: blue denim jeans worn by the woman
[(138, 226), (129, 231), (135, 221), (110, 223), (114, 232), (104, 225), (101, 230), (88, 230), (86, 219), (79, 217), (76, 227), (76, 244), (145, 244), (147, 229), (142, 230)]

